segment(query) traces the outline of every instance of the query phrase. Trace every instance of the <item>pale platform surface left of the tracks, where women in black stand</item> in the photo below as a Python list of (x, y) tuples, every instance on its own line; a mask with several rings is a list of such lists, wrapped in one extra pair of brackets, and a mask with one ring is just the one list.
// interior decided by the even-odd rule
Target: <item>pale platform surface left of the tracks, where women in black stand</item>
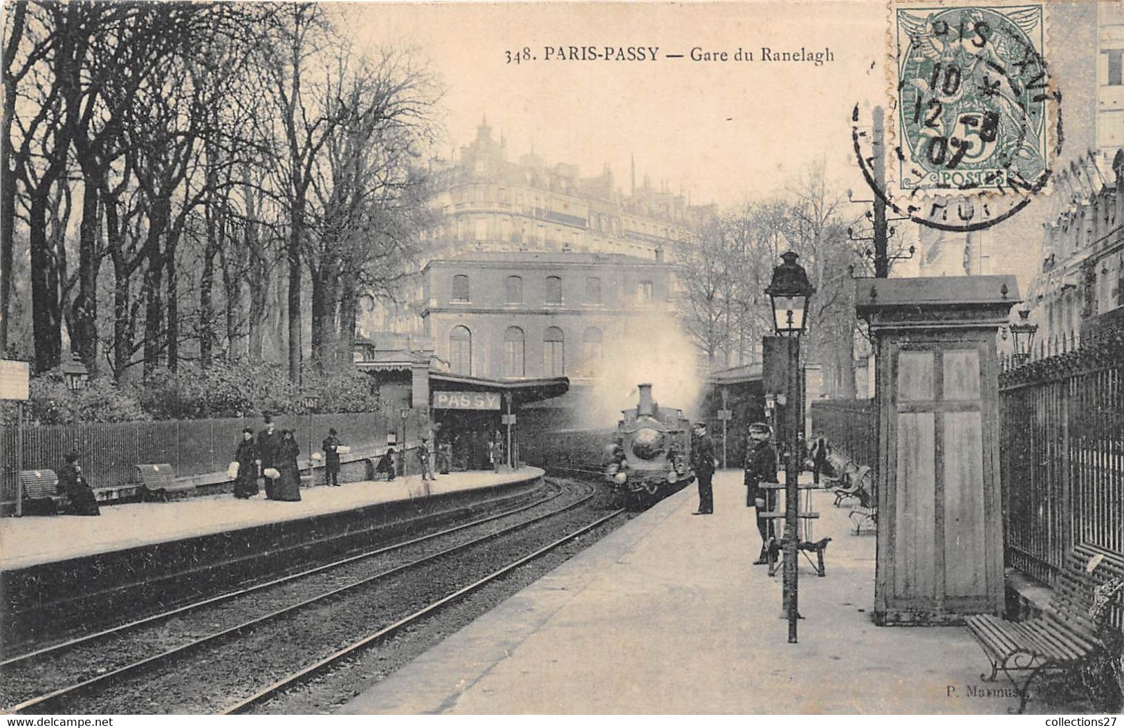
[(419, 475), (392, 482), (361, 481), (339, 488), (302, 488), (294, 502), (229, 493), (169, 503), (101, 506), (101, 516), (25, 516), (0, 519), (0, 571), (58, 562), (78, 556), (160, 544), (284, 520), (347, 511), (374, 503), (523, 483), (543, 474), (537, 467), (438, 475), (428, 484)]

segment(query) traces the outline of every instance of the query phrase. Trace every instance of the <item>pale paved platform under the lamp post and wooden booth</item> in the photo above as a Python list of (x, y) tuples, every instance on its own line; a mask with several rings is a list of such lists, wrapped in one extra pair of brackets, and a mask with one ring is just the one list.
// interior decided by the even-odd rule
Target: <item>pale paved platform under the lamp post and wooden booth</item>
[[(960, 627), (870, 621), (874, 537), (814, 492), (833, 538), (827, 576), (800, 570), (799, 644), (780, 619), (781, 577), (753, 566), (760, 538), (741, 472), (715, 477), (570, 559), (450, 636), (344, 713), (1006, 713)], [(984, 693), (986, 695), (987, 693)]]

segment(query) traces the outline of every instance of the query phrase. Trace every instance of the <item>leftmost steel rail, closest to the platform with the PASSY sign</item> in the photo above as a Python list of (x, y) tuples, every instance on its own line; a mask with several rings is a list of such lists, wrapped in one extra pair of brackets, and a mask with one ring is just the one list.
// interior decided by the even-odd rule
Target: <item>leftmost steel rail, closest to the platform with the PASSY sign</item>
[[(145, 625), (151, 625), (153, 622), (157, 622), (157, 621), (161, 621), (163, 619), (169, 619), (171, 617), (176, 617), (176, 616), (180, 616), (180, 615), (184, 615), (184, 613), (194, 611), (197, 609), (201, 609), (203, 607), (208, 607), (208, 606), (211, 606), (211, 604), (218, 604), (220, 602), (234, 599), (236, 597), (245, 597), (246, 594), (251, 594), (253, 592), (261, 591), (261, 590), (268, 589), (270, 586), (277, 586), (279, 584), (284, 584), (284, 583), (290, 582), (290, 581), (296, 581), (296, 580), (302, 579), (305, 576), (311, 576), (314, 574), (317, 574), (317, 573), (320, 573), (320, 572), (324, 572), (324, 571), (328, 571), (330, 568), (335, 568), (337, 566), (344, 566), (344, 565), (347, 565), (347, 564), (351, 564), (351, 563), (354, 563), (354, 562), (357, 562), (357, 561), (362, 561), (364, 558), (371, 558), (371, 557), (374, 557), (374, 556), (379, 556), (381, 554), (386, 554), (388, 552), (392, 552), (395, 549), (405, 548), (406, 546), (413, 546), (414, 544), (418, 544), (418, 543), (428, 540), (430, 538), (438, 538), (441, 536), (447, 536), (448, 534), (454, 534), (454, 533), (456, 533), (459, 530), (463, 530), (465, 528), (472, 528), (473, 526), (479, 526), (481, 524), (487, 524), (488, 521), (491, 521), (491, 520), (497, 520), (499, 518), (506, 518), (508, 516), (514, 516), (515, 513), (519, 513), (519, 512), (523, 512), (525, 510), (529, 510), (532, 508), (535, 508), (537, 506), (542, 506), (543, 503), (547, 503), (547, 502), (554, 500), (555, 498), (558, 498), (561, 494), (562, 494), (562, 491), (560, 490), (558, 493), (554, 493), (553, 495), (551, 495), (549, 498), (544, 498), (544, 499), (537, 500), (537, 501), (531, 503), (529, 506), (520, 506), (519, 508), (515, 508), (515, 509), (511, 509), (511, 510), (508, 510), (508, 511), (504, 511), (502, 513), (498, 513), (498, 515), (495, 515), (495, 516), (488, 516), (486, 518), (481, 518), (481, 519), (478, 519), (478, 520), (474, 520), (474, 521), (470, 521), (468, 524), (462, 524), (460, 526), (454, 526), (452, 528), (447, 528), (445, 530), (441, 530), (441, 531), (436, 531), (436, 533), (433, 533), (433, 534), (428, 534), (426, 536), (418, 536), (417, 538), (411, 538), (411, 539), (406, 540), (406, 542), (400, 542), (400, 543), (397, 543), (397, 544), (391, 544), (390, 546), (382, 546), (382, 547), (379, 547), (379, 548), (377, 548), (374, 550), (363, 552), (362, 554), (355, 554), (353, 556), (347, 556), (345, 558), (341, 558), (338, 561), (335, 561), (335, 562), (332, 562), (332, 563), (328, 563), (328, 564), (321, 564), (319, 566), (314, 566), (312, 568), (308, 568), (308, 570), (302, 571), (302, 572), (298, 572), (298, 573), (294, 573), (294, 574), (288, 574), (285, 576), (280, 576), (278, 579), (274, 579), (274, 580), (268, 581), (268, 582), (263, 582), (261, 584), (254, 584), (254, 585), (247, 586), (245, 589), (238, 589), (238, 590), (235, 590), (235, 591), (232, 591), (232, 592), (226, 592), (226, 593), (223, 593), (223, 594), (218, 594), (216, 597), (210, 597), (208, 599), (205, 599), (205, 600), (201, 600), (201, 601), (198, 601), (198, 602), (192, 602), (190, 604), (184, 604), (182, 607), (176, 607), (175, 609), (171, 609), (169, 611), (160, 612), (160, 613), (156, 613), (156, 615), (151, 615), (151, 616), (144, 617), (142, 619), (137, 619), (137, 620), (134, 620), (134, 621), (130, 621), (130, 622), (126, 622), (124, 625), (118, 625), (116, 627), (110, 627), (108, 629), (102, 629), (102, 630), (97, 631), (97, 633), (92, 633), (92, 634), (89, 634), (89, 635), (83, 635), (82, 637), (75, 637), (73, 639), (69, 639), (66, 641), (62, 641), (62, 643), (58, 643), (58, 644), (55, 644), (55, 645), (49, 645), (47, 647), (43, 647), (43, 648), (36, 649), (34, 652), (25, 653), (22, 655), (16, 655), (15, 657), (8, 657), (7, 659), (0, 661), (0, 667), (8, 667), (10, 665), (15, 665), (15, 664), (18, 664), (18, 663), (21, 663), (21, 662), (25, 662), (25, 661), (28, 661), (28, 659), (33, 659), (33, 658), (36, 658), (36, 657), (45, 657), (47, 655), (52, 655), (52, 654), (62, 652), (64, 649), (78, 647), (80, 645), (87, 644), (87, 643), (92, 641), (94, 639), (99, 639), (99, 638), (102, 638), (102, 637), (109, 637), (111, 635), (118, 635), (118, 634), (128, 631), (130, 629), (136, 629), (137, 627), (144, 627)], [(502, 501), (502, 500), (510, 500), (510, 499), (514, 499), (514, 498), (518, 498), (518, 495), (509, 495), (509, 497), (490, 499), (488, 501), (482, 501), (479, 504), (488, 504), (490, 502)], [(398, 524), (388, 524), (388, 526), (404, 526), (404, 525), (408, 525), (408, 524), (410, 524), (413, 521), (427, 520), (427, 519), (432, 519), (434, 517), (441, 518), (442, 516), (451, 513), (451, 512), (454, 512), (456, 510), (462, 510), (462, 509), (456, 508), (456, 509), (450, 509), (447, 511), (441, 511), (438, 513), (430, 513), (428, 516), (418, 516), (416, 518), (407, 519), (405, 521), (399, 521)], [(354, 534), (350, 534), (350, 535), (354, 535)], [(227, 563), (229, 563), (229, 562), (227, 562)], [(219, 564), (219, 566), (223, 566), (223, 565), (225, 565), (225, 564)]]

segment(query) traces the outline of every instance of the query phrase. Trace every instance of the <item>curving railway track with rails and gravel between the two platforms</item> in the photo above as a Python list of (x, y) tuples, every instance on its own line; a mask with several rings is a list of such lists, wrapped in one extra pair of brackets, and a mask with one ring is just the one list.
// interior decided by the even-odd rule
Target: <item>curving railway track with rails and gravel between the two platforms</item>
[[(160, 701), (149, 701), (148, 706), (140, 707), (126, 698), (124, 704), (129, 708), (129, 712), (244, 712), (253, 709), (341, 661), (404, 630), (413, 629), (420, 620), (432, 617), (481, 586), (619, 515), (611, 512), (591, 518), (586, 513), (579, 518), (577, 511), (588, 507), (595, 489), (572, 481), (553, 482), (560, 484), (556, 493), (528, 506), (9, 658), (0, 663), (8, 685), (4, 689), (8, 693), (4, 697), (4, 712), (125, 712), (119, 699), (107, 699), (109, 693), (128, 695), (139, 692), (151, 698), (162, 694), (157, 688), (160, 684), (191, 684), (192, 673), (197, 675), (194, 680), (199, 683), (199, 695), (172, 695), (171, 704), (161, 706)], [(561, 506), (547, 506), (558, 499), (565, 502)], [(582, 524), (577, 528), (568, 526), (562, 537), (551, 538), (545, 546), (536, 544), (531, 554), (514, 561), (505, 559), (506, 563), (499, 568), (491, 568), (483, 576), (472, 579), (472, 575), (461, 574), (468, 574), (478, 564), (490, 565), (489, 559), (493, 559), (496, 553), (504, 547), (524, 553), (525, 548), (518, 548), (517, 544), (520, 539), (534, 540), (528, 531), (536, 528), (543, 530), (546, 528), (545, 524), (560, 518), (578, 519)], [(504, 519), (514, 522), (501, 522)], [(472, 529), (486, 533), (472, 534)], [(464, 535), (470, 538), (463, 539)], [(451, 543), (451, 539), (455, 539), (455, 543)], [(489, 549), (491, 545), (501, 542), (510, 545)], [(411, 555), (411, 550), (423, 553)], [(400, 563), (386, 564), (386, 567), (374, 570), (370, 565), (364, 566), (372, 559), (386, 559), (396, 555), (400, 557)], [(442, 571), (450, 564), (456, 564), (456, 572)], [(428, 580), (427, 574), (430, 575)], [(433, 574), (437, 574), (437, 577), (433, 577)], [(471, 583), (464, 585), (462, 581), (469, 579), (472, 579)], [(424, 593), (425, 603), (418, 607), (417, 592), (434, 591), (429, 589), (430, 581), (442, 582), (442, 589), (436, 590), (441, 593)], [(444, 589), (444, 582), (450, 582), (453, 588)], [(375, 591), (375, 586), (381, 591)], [(284, 593), (285, 589), (291, 593)], [(399, 593), (396, 598), (395, 594)], [(386, 608), (375, 604), (378, 608), (372, 609), (372, 602), (378, 602), (379, 599), (387, 602)], [(261, 609), (263, 604), (285, 600), (288, 603), (280, 608), (264, 610), (264, 613)], [(406, 606), (409, 613), (400, 615), (402, 606)], [(216, 608), (225, 609), (225, 615), (217, 612)], [(230, 619), (239, 613), (255, 616), (251, 619)], [(184, 625), (184, 621), (191, 624)], [(323, 637), (314, 634), (319, 626), (335, 626), (337, 621), (347, 622), (347, 629), (327, 629)], [(386, 626), (372, 631), (372, 624)], [(200, 629), (211, 625), (219, 625), (219, 628)], [(346, 639), (341, 639), (343, 631), (348, 633)], [(359, 638), (354, 637), (356, 633), (361, 635)], [(297, 643), (320, 647), (321, 653), (325, 647), (334, 648), (309, 664), (311, 650), (300, 649)], [(83, 662), (83, 657), (94, 650), (120, 655), (121, 659), (110, 661), (108, 665), (98, 661), (85, 672), (75, 667), (75, 661)], [(221, 665), (221, 672), (226, 674), (239, 661), (245, 664), (245, 668), (234, 670), (238, 674), (233, 682), (237, 684), (227, 684), (225, 690), (219, 690), (223, 685), (211, 684), (215, 681), (208, 680), (207, 674), (198, 674), (201, 665)], [(292, 661), (297, 661), (300, 666), (293, 670)], [(263, 670), (257, 664), (251, 664), (255, 662), (263, 662), (269, 666)], [(289, 664), (283, 670), (279, 670), (277, 664), (270, 664), (278, 662)], [(89, 668), (93, 668), (96, 674), (89, 674)], [(187, 677), (184, 672), (188, 673)], [(242, 673), (252, 676), (280, 675), (262, 688), (260, 684), (247, 684), (241, 677)], [(19, 685), (42, 684), (45, 677), (52, 675), (56, 681), (58, 676), (66, 675), (71, 680), (38, 694), (18, 692)], [(17, 685), (16, 692), (12, 692), (13, 683)], [(230, 694), (241, 697), (229, 703)]]

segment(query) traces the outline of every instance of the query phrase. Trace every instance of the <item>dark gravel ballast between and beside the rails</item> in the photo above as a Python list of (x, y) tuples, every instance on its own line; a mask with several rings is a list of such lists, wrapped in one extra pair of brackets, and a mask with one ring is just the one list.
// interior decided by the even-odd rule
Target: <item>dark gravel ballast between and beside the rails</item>
[[(78, 647), (55, 658), (37, 661), (28, 668), (15, 665), (4, 672), (4, 704), (15, 704), (34, 694), (109, 672), (359, 579), (496, 533), (532, 516), (541, 516), (580, 500), (580, 495), (587, 491), (587, 486), (571, 488), (571, 492), (563, 498), (537, 504), (517, 515), (441, 536), (425, 544), (409, 545), (391, 554), (341, 565), (320, 574), (235, 598), (229, 602), (205, 607), (112, 639)], [(547, 543), (542, 534), (559, 534), (572, 524), (588, 522), (591, 519), (581, 513), (584, 513), (584, 508), (578, 507), (573, 512), (551, 518), (550, 526), (525, 527), (496, 542), (451, 555), (437, 564), (378, 580), (374, 584), (337, 595), (328, 603), (308, 606), (296, 615), (278, 617), (274, 621), (232, 636), (224, 640), (225, 644), (203, 647), (196, 654), (173, 658), (174, 663), (146, 671), (136, 677), (126, 677), (110, 691), (114, 693), (112, 699), (97, 694), (74, 698), (66, 709), (72, 712), (200, 712), (220, 709), (232, 701), (230, 695), (236, 694), (236, 685), (245, 685), (246, 689), (241, 694), (251, 694), (293, 666), (309, 662), (311, 656), (328, 654), (371, 631), (371, 624), (393, 621), (423, 607), (427, 598), (434, 594), (443, 595), (459, 585), (471, 583), (489, 573), (490, 567), (499, 563), (499, 559), (505, 559), (507, 553), (531, 550), (517, 544), (528, 539), (528, 543)], [(460, 573), (465, 567), (471, 567), (468, 570), (471, 576)], [(388, 613), (393, 617), (384, 618)], [(378, 621), (380, 619), (381, 622)], [(325, 631), (324, 626), (330, 629)], [(337, 635), (350, 635), (350, 638)], [(188, 679), (178, 677), (184, 672), (196, 674)], [(164, 680), (164, 675), (169, 679)], [(269, 680), (266, 675), (270, 675)], [(160, 686), (155, 683), (160, 683)]]

